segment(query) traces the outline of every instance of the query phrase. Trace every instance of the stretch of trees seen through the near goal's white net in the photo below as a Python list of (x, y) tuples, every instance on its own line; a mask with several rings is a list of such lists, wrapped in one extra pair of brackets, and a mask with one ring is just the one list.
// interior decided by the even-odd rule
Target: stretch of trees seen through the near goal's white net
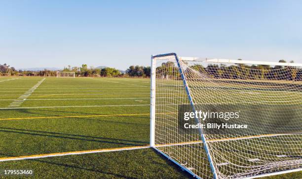
[[(286, 63), (285, 60), (280, 60), (280, 63)], [(294, 63), (291, 61), (291, 63)], [(274, 79), (274, 80), (296, 80), (302, 81), (302, 68), (289, 66), (274, 66), (269, 65), (244, 65), (244, 64), (209, 64), (207, 67), (202, 65), (191, 65), (190, 68), (184, 70), (187, 74), (193, 74), (192, 71), (198, 71), (202, 74), (207, 74), (216, 79)], [(173, 78), (181, 77), (178, 68), (173, 62), (162, 63), (156, 68), (157, 77)], [(187, 78), (196, 78), (196, 75), (187, 75)]]

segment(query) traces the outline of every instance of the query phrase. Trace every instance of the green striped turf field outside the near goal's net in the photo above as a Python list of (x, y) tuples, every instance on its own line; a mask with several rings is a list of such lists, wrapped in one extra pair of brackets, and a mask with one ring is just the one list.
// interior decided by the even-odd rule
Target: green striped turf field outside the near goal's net
[[(149, 145), (150, 79), (48, 77), (32, 89), (42, 79), (0, 77), (0, 159)], [(0, 162), (11, 169), (34, 178), (190, 177), (151, 148)]]

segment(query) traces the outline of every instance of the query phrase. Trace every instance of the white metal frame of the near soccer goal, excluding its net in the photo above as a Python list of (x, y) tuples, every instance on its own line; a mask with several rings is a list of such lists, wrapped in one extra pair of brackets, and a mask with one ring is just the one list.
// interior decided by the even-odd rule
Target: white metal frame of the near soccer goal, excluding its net
[[(208, 59), (208, 58), (198, 58), (198, 57), (178, 57), (176, 53), (166, 53), (166, 54), (159, 54), (159, 55), (154, 55), (154, 56), (151, 55), (150, 146), (151, 146), (151, 148), (153, 148), (156, 151), (158, 151), (159, 153), (161, 153), (163, 156), (167, 157), (170, 161), (172, 161), (173, 163), (175, 163), (176, 165), (181, 167), (182, 170), (187, 171), (194, 178), (200, 178), (200, 177), (197, 176), (196, 174), (194, 174), (193, 172), (191, 172), (189, 169), (187, 169), (186, 167), (181, 165), (179, 162), (177, 162), (176, 160), (174, 160), (170, 156), (168, 156), (167, 154), (165, 154), (164, 152), (162, 152), (161, 150), (159, 150), (158, 148), (156, 148), (156, 145), (155, 145), (156, 58), (158, 58), (160, 60), (161, 57), (162, 57), (162, 59), (164, 59), (164, 57), (167, 57), (167, 56), (174, 56), (175, 57), (179, 72), (180, 72), (181, 77), (182, 77), (183, 82), (184, 82), (184, 87), (186, 89), (190, 105), (191, 105), (191, 107), (193, 107), (193, 111), (194, 111), (194, 104), (193, 104), (193, 101), (192, 101), (192, 98), (191, 98), (191, 95), (190, 95), (190, 92), (189, 92), (189, 86), (187, 84), (186, 78), (185, 78), (185, 76), (182, 72), (181, 66), (180, 66), (180, 60), (182, 60), (182, 61), (195, 61), (195, 62), (207, 62), (207, 63), (212, 62), (212, 63), (248, 64), (248, 65), (270, 65), (270, 66), (302, 67), (301, 63), (280, 63), (280, 62), (246, 61), (246, 60), (232, 60), (232, 59), (218, 59), (218, 58)], [(198, 122), (197, 118), (195, 118), (195, 121), (196, 120)], [(207, 154), (208, 161), (210, 163), (210, 168), (211, 168), (211, 171), (213, 173), (213, 177), (214, 177), (214, 179), (218, 179), (218, 176), (217, 176), (217, 173), (216, 173), (216, 170), (215, 170), (215, 166), (212, 162), (211, 154), (208, 150), (207, 141), (206, 141), (206, 139), (205, 139), (205, 137), (202, 133), (202, 129), (199, 129), (199, 134), (201, 135), (202, 143), (204, 143), (204, 149), (205, 149), (205, 152)], [(260, 178), (260, 177), (274, 176), (274, 175), (280, 175), (280, 174), (286, 174), (286, 173), (298, 172), (298, 171), (302, 171), (302, 168), (285, 170), (285, 171), (278, 171), (278, 172), (267, 173), (267, 174), (262, 174), (262, 175), (257, 175), (257, 176), (251, 176), (251, 177), (246, 177), (245, 179), (254, 179), (254, 178)]]

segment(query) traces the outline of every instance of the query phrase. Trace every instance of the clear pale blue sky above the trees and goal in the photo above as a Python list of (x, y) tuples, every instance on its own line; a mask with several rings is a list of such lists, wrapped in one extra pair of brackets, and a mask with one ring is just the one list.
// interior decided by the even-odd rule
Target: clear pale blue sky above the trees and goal
[(0, 64), (125, 70), (166, 52), (302, 63), (302, 1), (0, 1)]

